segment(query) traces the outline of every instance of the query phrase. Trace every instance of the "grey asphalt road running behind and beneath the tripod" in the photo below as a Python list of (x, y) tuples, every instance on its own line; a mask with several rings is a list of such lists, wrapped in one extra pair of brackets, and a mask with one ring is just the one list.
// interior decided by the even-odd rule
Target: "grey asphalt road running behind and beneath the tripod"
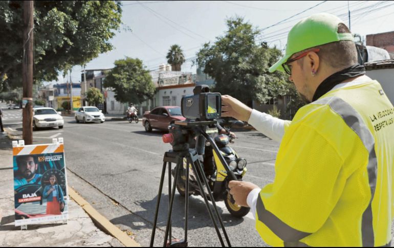
[[(20, 116), (17, 116), (17, 112), (21, 110), (14, 111), (14, 118), (9, 118), (9, 125), (6, 126), (20, 131)], [(34, 131), (34, 143), (45, 144), (51, 143), (53, 138), (64, 138), (65, 162), (73, 174), (73, 180), (78, 177), (79, 181), (91, 186), (91, 191), (84, 191), (81, 195), (96, 206), (100, 205), (100, 199), (90, 197), (97, 193), (93, 192), (94, 190), (117, 202), (123, 207), (121, 215), (114, 214), (117, 211), (111, 206), (101, 209), (100, 212), (122, 229), (134, 232), (141, 245), (149, 245), (163, 155), (171, 149), (169, 144), (162, 142), (164, 133), (155, 130), (147, 133), (141, 122), (130, 124), (126, 121), (107, 121), (103, 124), (82, 124), (76, 123), (72, 117), (65, 117), (64, 120), (63, 129), (46, 128)], [(248, 161), (245, 180), (259, 186), (271, 183), (278, 143), (256, 131), (235, 132), (238, 139), (232, 147)], [(78, 191), (78, 188), (76, 190)], [(167, 180), (163, 191), (165, 193), (162, 195), (155, 245), (162, 245), (163, 242), (168, 210)], [(101, 201), (104, 201), (104, 198)], [(218, 202), (218, 206), (233, 246), (266, 245), (255, 231), (251, 214), (238, 219), (229, 214), (224, 202)], [(172, 216), (172, 236), (183, 238), (184, 197), (178, 193)], [(191, 196), (189, 200), (188, 239), (190, 246), (220, 246), (200, 196)]]

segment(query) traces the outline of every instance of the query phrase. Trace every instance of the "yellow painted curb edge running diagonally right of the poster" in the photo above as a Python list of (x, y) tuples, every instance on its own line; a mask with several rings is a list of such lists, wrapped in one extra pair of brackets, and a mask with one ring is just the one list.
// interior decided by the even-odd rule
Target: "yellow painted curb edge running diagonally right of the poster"
[(139, 243), (130, 238), (127, 234), (122, 232), (122, 230), (117, 228), (113, 223), (97, 212), (97, 210), (95, 210), (89, 204), (89, 202), (78, 195), (77, 192), (75, 192), (72, 188), (68, 187), (68, 189), (70, 197), (72, 197), (77, 202), (77, 204), (81, 206), (87, 214), (89, 214), (93, 221), (96, 222), (105, 232), (117, 238), (126, 247), (141, 247)]

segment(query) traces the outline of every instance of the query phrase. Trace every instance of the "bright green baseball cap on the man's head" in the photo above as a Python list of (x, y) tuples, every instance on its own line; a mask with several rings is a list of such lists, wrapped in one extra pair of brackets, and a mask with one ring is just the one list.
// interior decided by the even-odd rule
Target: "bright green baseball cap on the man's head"
[(284, 72), (282, 64), (305, 49), (340, 40), (354, 41), (351, 33), (338, 33), (340, 23), (343, 23), (341, 19), (328, 13), (314, 14), (300, 20), (289, 32), (285, 55), (270, 67), (269, 72)]

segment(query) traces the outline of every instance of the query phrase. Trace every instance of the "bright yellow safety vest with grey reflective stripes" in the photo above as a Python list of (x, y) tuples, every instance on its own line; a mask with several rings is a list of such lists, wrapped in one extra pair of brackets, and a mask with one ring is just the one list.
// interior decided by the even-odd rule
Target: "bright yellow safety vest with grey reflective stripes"
[(256, 205), (272, 246), (384, 246), (394, 213), (394, 107), (377, 81), (326, 93), (286, 127)]

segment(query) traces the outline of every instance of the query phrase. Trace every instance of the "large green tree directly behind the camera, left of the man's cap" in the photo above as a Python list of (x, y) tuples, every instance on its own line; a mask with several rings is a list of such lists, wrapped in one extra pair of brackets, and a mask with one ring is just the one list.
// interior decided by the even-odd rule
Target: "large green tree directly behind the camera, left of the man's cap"
[(214, 43), (205, 43), (197, 54), (196, 63), (216, 82), (213, 90), (249, 106), (252, 100), (265, 102), (286, 94), (286, 75), (268, 72), (281, 56), (280, 51), (265, 42), (256, 44), (259, 31), (242, 17), (228, 19), (227, 29)]

